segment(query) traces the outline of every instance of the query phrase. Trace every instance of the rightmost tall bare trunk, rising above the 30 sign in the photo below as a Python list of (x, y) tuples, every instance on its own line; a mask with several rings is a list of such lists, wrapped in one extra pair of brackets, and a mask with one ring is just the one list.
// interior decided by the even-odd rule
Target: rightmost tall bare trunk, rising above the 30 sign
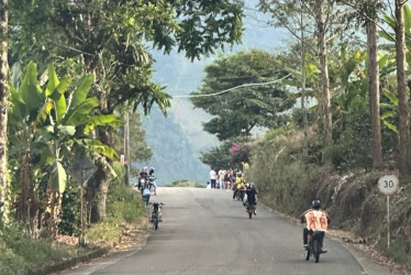
[(398, 82), (398, 106), (399, 106), (399, 169), (402, 175), (410, 175), (410, 129), (407, 96), (407, 75), (406, 75), (406, 34), (403, 1), (396, 0), (396, 50), (397, 50), (397, 82)]

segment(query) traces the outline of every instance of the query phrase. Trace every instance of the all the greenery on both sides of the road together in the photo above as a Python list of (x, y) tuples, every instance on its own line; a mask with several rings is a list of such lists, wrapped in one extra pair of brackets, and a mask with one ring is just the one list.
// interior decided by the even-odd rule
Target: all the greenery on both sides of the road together
[[(249, 164), (246, 179), (288, 215), (321, 199), (332, 227), (410, 267), (411, 9), (388, 4), (259, 0), (267, 25), (296, 40), (276, 53), (220, 55), (191, 101), (213, 116), (203, 127), (222, 142), (203, 152), (204, 164)], [(70, 256), (56, 241), (81, 234), (80, 201), (90, 245), (143, 223), (129, 187), (137, 172), (126, 165), (153, 152), (137, 114), (132, 127), (124, 118), (153, 106), (166, 114), (171, 99), (152, 80), (146, 45), (191, 61), (214, 54), (241, 42), (243, 12), (241, 1), (223, 0), (1, 1), (0, 273)], [(391, 196), (390, 248), (384, 174), (402, 186)]]

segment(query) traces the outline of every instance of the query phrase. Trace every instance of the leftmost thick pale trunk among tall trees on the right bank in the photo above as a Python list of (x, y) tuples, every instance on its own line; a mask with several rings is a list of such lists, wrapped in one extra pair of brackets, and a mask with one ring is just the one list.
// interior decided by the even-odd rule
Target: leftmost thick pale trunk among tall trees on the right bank
[(316, 35), (319, 44), (320, 55), (320, 87), (322, 88), (322, 106), (324, 112), (324, 145), (330, 146), (333, 143), (332, 132), (332, 116), (331, 116), (331, 92), (330, 92), (330, 79), (329, 79), (329, 65), (326, 59), (326, 38), (325, 38), (325, 22), (322, 14), (322, 9), (318, 9), (316, 14)]

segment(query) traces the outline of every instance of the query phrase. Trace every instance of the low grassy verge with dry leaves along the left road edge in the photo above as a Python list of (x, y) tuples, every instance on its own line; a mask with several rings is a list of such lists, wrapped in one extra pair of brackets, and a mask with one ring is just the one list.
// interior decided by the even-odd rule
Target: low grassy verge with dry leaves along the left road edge
[[(86, 245), (78, 245), (81, 233), (79, 204), (76, 201), (76, 205), (66, 205), (67, 201), (64, 200), (59, 233), (55, 241), (33, 239), (27, 226), (18, 221), (2, 226), (0, 274), (32, 274), (43, 266), (81, 256), (96, 249), (111, 249), (119, 244), (123, 231), (130, 226), (146, 230), (146, 211), (140, 193), (124, 185), (122, 165), (115, 167), (120, 168), (120, 177), (109, 189), (107, 218), (98, 223), (86, 223)], [(74, 193), (79, 191), (68, 190), (67, 196), (70, 194), (76, 197)]]

